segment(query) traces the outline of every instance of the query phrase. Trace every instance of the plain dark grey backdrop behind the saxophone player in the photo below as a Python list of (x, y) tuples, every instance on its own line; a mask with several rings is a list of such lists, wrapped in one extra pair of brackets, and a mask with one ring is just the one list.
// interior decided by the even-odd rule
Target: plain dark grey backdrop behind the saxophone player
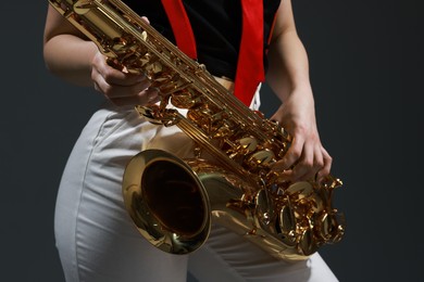
[[(292, 0), (317, 119), (345, 185), (345, 240), (322, 249), (341, 281), (417, 281), (424, 243), (421, 0)], [(63, 281), (53, 208), (63, 166), (100, 98), (43, 67), (47, 1), (1, 15), (2, 281)], [(264, 94), (270, 114), (275, 100)]]

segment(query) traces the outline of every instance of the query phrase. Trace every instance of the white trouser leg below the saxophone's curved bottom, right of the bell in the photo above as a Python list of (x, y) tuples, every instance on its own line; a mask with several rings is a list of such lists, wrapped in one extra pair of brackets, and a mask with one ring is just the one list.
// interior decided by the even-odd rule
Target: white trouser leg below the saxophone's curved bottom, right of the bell
[(305, 261), (276, 260), (257, 245), (213, 226), (208, 242), (190, 254), (189, 272), (201, 282), (215, 281), (338, 281), (319, 254)]

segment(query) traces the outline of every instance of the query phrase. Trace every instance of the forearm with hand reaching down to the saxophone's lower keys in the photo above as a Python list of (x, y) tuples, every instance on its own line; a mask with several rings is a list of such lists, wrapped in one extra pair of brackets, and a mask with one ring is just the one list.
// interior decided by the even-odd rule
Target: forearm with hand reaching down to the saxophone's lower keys
[(322, 179), (329, 174), (332, 158), (321, 144), (307, 52), (296, 33), (276, 38), (270, 61), (267, 79), (283, 102), (271, 119), (292, 137), (290, 149), (274, 169), (292, 181)]

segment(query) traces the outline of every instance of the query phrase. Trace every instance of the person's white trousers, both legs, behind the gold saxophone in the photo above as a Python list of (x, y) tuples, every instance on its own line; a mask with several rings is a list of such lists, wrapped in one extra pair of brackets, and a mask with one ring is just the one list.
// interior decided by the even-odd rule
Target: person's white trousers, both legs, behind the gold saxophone
[(219, 226), (190, 255), (170, 255), (147, 243), (124, 209), (122, 176), (140, 150), (186, 140), (177, 131), (151, 125), (132, 108), (108, 106), (92, 116), (57, 201), (55, 239), (66, 281), (186, 281), (187, 271), (199, 281), (337, 281), (317, 254), (296, 264), (275, 260)]

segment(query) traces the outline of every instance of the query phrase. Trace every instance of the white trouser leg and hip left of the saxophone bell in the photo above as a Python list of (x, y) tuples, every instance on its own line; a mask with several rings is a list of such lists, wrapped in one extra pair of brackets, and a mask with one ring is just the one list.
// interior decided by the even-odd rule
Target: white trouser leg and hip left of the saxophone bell
[(55, 209), (66, 281), (186, 281), (187, 256), (147, 243), (123, 205), (125, 165), (155, 130), (134, 110), (101, 110), (84, 129), (66, 165)]

